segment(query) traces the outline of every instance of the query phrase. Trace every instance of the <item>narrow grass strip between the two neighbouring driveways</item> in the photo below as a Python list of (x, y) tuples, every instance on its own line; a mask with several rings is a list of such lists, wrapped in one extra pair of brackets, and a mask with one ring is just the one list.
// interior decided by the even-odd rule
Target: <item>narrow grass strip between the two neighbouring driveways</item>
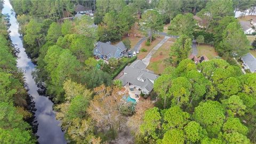
[(140, 60), (144, 59), (146, 57), (146, 55), (153, 49), (153, 47), (155, 47), (160, 41), (162, 41), (163, 38), (164, 38), (164, 36), (156, 37), (156, 39), (153, 42), (151, 42), (151, 44), (149, 46), (146, 46), (146, 41), (144, 41), (141, 44), (140, 50), (146, 49), (147, 52), (140, 51), (140, 53), (137, 54), (137, 58)]

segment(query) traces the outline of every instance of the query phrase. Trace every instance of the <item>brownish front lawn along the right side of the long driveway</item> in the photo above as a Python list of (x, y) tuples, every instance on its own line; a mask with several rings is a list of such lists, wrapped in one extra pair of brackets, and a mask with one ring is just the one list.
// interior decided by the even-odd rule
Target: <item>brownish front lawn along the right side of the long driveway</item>
[(164, 60), (169, 58), (170, 46), (173, 45), (171, 38), (168, 39), (153, 55), (150, 59), (150, 63), (147, 69), (154, 71), (155, 74), (163, 73), (165, 69)]

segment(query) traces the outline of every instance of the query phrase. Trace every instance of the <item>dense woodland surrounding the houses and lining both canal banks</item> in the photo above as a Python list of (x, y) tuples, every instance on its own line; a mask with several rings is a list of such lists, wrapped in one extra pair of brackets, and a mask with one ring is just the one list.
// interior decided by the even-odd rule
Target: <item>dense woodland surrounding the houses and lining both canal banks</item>
[[(23, 45), (37, 65), (35, 81), (53, 99), (70, 143), (113, 142), (124, 130), (134, 143), (256, 143), (256, 74), (243, 74), (234, 60), (251, 48), (234, 11), (255, 10), (255, 0), (11, 4)], [(65, 19), (76, 14), (77, 4), (92, 10), (94, 17)], [(204, 28), (196, 25), (194, 15), (207, 20)], [(98, 41), (123, 41), (131, 47), (123, 37), (138, 23), (151, 31), (149, 44), (155, 39), (152, 33), (162, 31), (166, 23), (168, 33), (179, 38), (150, 97), (134, 105), (124, 100), (127, 91), (113, 78), (136, 57), (105, 63), (95, 60), (92, 50)], [(7, 15), (1, 15), (0, 26), (0, 142), (35, 143), (25, 122), (32, 114), (23, 76), (2, 73), (18, 70)], [(214, 45), (222, 59), (198, 65), (187, 59), (193, 39)]]

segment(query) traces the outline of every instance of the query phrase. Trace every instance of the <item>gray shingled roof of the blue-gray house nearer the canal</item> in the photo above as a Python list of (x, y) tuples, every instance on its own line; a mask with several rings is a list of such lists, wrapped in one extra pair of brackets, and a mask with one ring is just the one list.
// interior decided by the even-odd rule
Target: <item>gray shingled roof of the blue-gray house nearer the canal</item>
[(98, 42), (96, 45), (96, 48), (102, 55), (112, 55), (114, 56), (116, 53), (116, 50), (118, 49), (117, 46), (111, 45), (111, 44), (106, 44), (102, 42)]

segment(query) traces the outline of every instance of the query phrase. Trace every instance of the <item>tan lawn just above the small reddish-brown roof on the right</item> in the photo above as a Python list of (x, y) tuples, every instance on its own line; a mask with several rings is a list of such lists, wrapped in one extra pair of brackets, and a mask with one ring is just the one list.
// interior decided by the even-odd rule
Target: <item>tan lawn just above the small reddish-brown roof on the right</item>
[(206, 55), (209, 60), (214, 59), (214, 57), (218, 55), (218, 53), (214, 50), (214, 47), (205, 44), (201, 44), (199, 46), (197, 45), (197, 52), (198, 57), (201, 55)]

